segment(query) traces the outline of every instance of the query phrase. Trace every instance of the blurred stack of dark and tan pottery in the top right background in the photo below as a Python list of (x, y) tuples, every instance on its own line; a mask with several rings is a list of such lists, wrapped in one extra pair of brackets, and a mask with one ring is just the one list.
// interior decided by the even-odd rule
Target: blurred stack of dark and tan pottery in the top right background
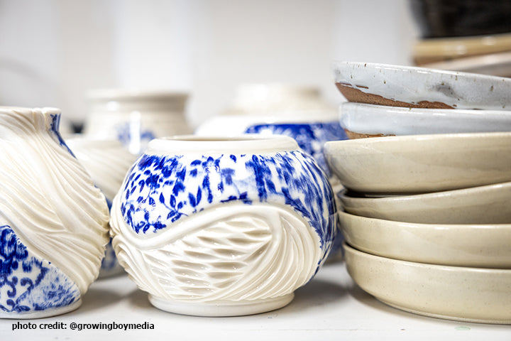
[(412, 0), (421, 39), (415, 65), (443, 70), (511, 76), (509, 1)]

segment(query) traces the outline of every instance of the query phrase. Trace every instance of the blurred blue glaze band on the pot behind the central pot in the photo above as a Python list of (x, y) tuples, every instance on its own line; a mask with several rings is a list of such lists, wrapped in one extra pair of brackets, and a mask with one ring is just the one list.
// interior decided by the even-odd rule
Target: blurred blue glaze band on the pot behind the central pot
[(300, 148), (309, 153), (323, 171), (330, 175), (323, 154), (323, 146), (327, 141), (346, 140), (348, 136), (338, 121), (310, 124), (256, 124), (249, 126), (246, 134), (271, 133), (290, 136), (297, 141)]

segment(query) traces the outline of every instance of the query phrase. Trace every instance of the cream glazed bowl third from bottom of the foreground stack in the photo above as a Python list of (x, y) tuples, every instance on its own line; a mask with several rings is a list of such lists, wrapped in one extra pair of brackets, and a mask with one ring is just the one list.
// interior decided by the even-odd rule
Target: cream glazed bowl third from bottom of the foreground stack
[(370, 197), (341, 191), (348, 213), (426, 224), (511, 224), (511, 183), (418, 195)]

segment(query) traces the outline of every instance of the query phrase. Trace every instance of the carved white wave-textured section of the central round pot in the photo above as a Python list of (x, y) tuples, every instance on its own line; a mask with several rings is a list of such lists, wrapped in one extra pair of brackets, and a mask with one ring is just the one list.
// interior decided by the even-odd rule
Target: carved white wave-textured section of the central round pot
[(317, 234), (290, 207), (230, 202), (136, 238), (112, 208), (114, 248), (143, 291), (172, 301), (257, 301), (292, 293), (314, 276)]

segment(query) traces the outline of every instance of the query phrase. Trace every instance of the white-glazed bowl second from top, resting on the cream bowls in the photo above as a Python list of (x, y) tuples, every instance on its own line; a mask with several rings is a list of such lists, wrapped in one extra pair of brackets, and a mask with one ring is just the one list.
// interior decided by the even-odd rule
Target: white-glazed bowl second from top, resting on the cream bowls
[(511, 112), (388, 107), (344, 102), (340, 124), (351, 139), (371, 136), (511, 131)]

